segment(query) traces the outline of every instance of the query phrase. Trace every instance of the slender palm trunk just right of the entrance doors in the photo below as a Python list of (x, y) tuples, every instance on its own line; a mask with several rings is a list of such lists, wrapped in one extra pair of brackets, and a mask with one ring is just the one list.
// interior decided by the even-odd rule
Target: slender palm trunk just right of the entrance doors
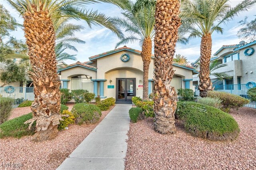
[(141, 57), (143, 61), (143, 100), (148, 100), (148, 70), (151, 61), (152, 41), (145, 38), (142, 43)]

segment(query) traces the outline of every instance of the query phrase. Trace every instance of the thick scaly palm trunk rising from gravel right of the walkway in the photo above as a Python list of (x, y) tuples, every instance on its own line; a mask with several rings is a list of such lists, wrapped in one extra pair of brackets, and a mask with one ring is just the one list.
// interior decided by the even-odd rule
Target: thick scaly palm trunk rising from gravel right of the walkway
[(162, 134), (176, 132), (174, 113), (177, 94), (170, 85), (174, 70), (172, 61), (180, 26), (179, 0), (157, 0), (154, 39), (154, 129)]

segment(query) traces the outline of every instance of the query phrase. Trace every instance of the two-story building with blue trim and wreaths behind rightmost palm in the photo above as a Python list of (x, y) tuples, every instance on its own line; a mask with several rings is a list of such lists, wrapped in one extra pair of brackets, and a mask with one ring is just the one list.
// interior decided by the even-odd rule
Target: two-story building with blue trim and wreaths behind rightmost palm
[[(216, 51), (210, 59), (211, 63), (218, 60), (225, 63), (225, 67), (220, 67), (214, 72), (226, 73), (229, 78), (218, 80), (215, 76), (210, 75), (212, 84), (218, 88), (234, 89), (234, 85), (240, 87), (241, 84), (256, 83), (256, 40), (249, 43), (223, 45)], [(194, 67), (200, 70), (200, 66), (196, 63), (200, 61), (198, 58), (194, 63)], [(193, 75), (193, 85), (199, 84), (198, 74)], [(217, 86), (218, 85), (218, 86)], [(221, 86), (223, 85), (223, 86)], [(230, 86), (229, 86), (230, 85)]]

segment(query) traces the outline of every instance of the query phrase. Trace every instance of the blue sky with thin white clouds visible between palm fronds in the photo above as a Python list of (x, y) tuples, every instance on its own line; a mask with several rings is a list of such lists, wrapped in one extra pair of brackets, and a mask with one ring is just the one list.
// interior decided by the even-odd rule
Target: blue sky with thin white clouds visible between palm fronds
[[(241, 0), (230, 0), (231, 8), (236, 6)], [(19, 16), (19, 14), (4, 0), (0, 0), (0, 4), (3, 4), (4, 7), (10, 11), (10, 14), (16, 18), (16, 20), (22, 24), (23, 19)], [(87, 6), (88, 9), (98, 10), (99, 12), (106, 14), (108, 16), (120, 16), (120, 12), (122, 11), (118, 7), (112, 4), (92, 4)], [(212, 54), (215, 53), (222, 45), (229, 44), (238, 44), (241, 40), (236, 36), (237, 31), (241, 28), (238, 22), (243, 20), (245, 16), (248, 16), (248, 21), (251, 21), (255, 18), (256, 15), (256, 6), (254, 8), (249, 9), (246, 12), (239, 14), (234, 18), (233, 21), (230, 21), (227, 25), (222, 25), (224, 28), (223, 34), (212, 34)], [(110, 51), (114, 49), (116, 43), (119, 41), (118, 38), (112, 34), (110, 30), (100, 26), (93, 26), (92, 28), (88, 28), (86, 22), (84, 21), (72, 21), (74, 24), (81, 24), (86, 29), (76, 33), (76, 36), (81, 40), (84, 40), (86, 44), (74, 44), (78, 49), (78, 52), (67, 50), (70, 54), (75, 54), (78, 61), (84, 62), (88, 61), (88, 57), (92, 55), (96, 55), (99, 53), (103, 53), (106, 51)], [(18, 39), (24, 38), (24, 32), (18, 28), (17, 31), (12, 32), (12, 35)], [(127, 34), (126, 34), (127, 35)], [(121, 45), (120, 47), (122, 47)], [(134, 49), (141, 50), (141, 46), (138, 42), (136, 43), (128, 43), (127, 47), (131, 47)], [(194, 38), (190, 40), (188, 45), (177, 44), (176, 45), (176, 54), (184, 55), (188, 58), (189, 61), (193, 62), (200, 56), (200, 39)], [(74, 63), (72, 60), (65, 61), (68, 64)]]

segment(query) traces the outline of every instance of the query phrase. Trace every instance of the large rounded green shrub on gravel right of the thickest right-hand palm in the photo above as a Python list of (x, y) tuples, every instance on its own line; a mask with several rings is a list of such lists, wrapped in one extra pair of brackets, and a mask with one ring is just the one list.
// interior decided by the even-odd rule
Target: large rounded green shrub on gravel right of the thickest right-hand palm
[(240, 132), (231, 115), (195, 102), (178, 102), (175, 116), (186, 131), (210, 140), (234, 140)]

